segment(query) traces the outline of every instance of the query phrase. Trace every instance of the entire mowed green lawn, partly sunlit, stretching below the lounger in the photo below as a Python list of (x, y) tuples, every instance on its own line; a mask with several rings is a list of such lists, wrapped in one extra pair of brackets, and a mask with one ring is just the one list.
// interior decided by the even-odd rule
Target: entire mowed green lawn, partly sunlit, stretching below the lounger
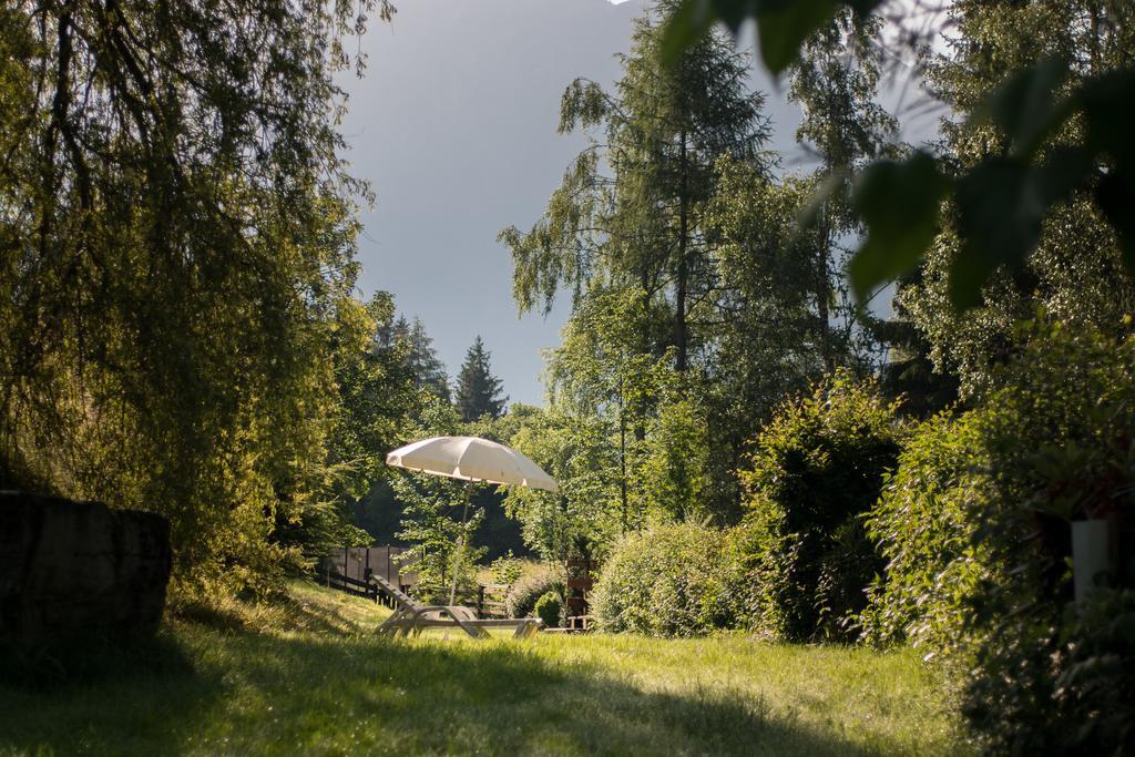
[(82, 681), (0, 684), (0, 754), (958, 754), (907, 651), (745, 637), (386, 640), (310, 583), (167, 624)]

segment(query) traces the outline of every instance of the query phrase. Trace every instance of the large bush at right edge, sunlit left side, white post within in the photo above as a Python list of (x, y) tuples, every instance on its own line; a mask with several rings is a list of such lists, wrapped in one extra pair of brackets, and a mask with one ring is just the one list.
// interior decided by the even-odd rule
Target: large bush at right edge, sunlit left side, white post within
[(1135, 339), (1032, 329), (1004, 389), (903, 451), (868, 520), (889, 563), (864, 625), (962, 666), (989, 749), (1119, 754), (1135, 747), (1135, 565), (1073, 604), (1069, 522), (1119, 515), (1130, 558)]

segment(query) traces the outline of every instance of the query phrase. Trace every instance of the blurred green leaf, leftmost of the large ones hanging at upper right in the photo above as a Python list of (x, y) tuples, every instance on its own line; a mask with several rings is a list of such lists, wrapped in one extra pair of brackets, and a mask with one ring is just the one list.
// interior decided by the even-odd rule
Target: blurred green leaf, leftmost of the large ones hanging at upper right
[(936, 161), (920, 151), (902, 161), (875, 161), (863, 173), (851, 199), (867, 226), (848, 266), (856, 297), (863, 301), (917, 266), (938, 232), (939, 205), (949, 188)]

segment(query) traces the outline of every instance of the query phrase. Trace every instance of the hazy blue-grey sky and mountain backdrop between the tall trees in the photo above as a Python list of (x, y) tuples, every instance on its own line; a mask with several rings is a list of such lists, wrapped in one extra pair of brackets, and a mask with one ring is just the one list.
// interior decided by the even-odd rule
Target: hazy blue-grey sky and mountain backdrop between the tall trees
[[(512, 261), (497, 233), (540, 217), (586, 144), (556, 134), (560, 96), (577, 76), (620, 75), (645, 0), (397, 0), (392, 24), (360, 41), (363, 78), (344, 73), (342, 125), (351, 171), (371, 183), (362, 212), (360, 296), (394, 294), (422, 319), (451, 377), (480, 335), (512, 402), (543, 404), (541, 351), (560, 342), (569, 304), (520, 317)], [(772, 146), (794, 149), (798, 111), (759, 67)]]

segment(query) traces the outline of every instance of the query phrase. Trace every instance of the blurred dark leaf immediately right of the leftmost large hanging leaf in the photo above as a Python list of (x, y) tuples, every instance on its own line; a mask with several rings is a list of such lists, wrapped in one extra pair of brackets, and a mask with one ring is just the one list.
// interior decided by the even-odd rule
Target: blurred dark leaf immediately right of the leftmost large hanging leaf
[(965, 309), (998, 266), (1024, 268), (1041, 238), (1044, 215), (1083, 183), (1091, 170), (1083, 150), (1062, 150), (1043, 166), (1017, 158), (991, 158), (958, 179), (961, 247), (950, 269), (950, 298)]

